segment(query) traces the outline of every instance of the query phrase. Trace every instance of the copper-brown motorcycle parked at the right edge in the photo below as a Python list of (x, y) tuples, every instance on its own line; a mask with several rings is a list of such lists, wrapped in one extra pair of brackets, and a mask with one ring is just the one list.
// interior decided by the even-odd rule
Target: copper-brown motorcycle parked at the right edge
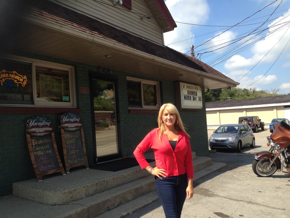
[(252, 169), (259, 177), (272, 176), (276, 171), (290, 175), (290, 126), (282, 121), (273, 127), (273, 133), (267, 136), (269, 151), (254, 154)]

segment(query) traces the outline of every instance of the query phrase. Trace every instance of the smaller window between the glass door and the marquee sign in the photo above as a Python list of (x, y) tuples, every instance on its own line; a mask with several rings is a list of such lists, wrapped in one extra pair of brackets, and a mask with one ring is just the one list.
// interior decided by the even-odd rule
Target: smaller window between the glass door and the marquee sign
[(159, 109), (159, 83), (127, 77), (128, 107)]

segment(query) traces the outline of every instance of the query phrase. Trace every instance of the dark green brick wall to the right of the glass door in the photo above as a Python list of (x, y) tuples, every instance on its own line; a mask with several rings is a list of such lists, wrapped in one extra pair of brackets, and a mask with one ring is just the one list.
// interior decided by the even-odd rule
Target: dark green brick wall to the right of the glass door
[[(161, 103), (172, 103), (176, 105), (175, 98), (175, 83), (174, 81), (157, 80), (155, 78), (148, 78), (135, 74), (118, 74), (120, 110), (121, 110), (121, 141), (122, 154), (132, 155), (135, 147), (140, 143), (146, 134), (158, 127), (158, 114), (129, 114), (128, 100), (127, 100), (127, 83), (126, 76), (159, 81), (161, 84)], [(204, 92), (204, 89), (202, 89)], [(203, 94), (204, 99), (204, 94)], [(205, 108), (205, 102), (203, 102)], [(192, 150), (197, 156), (208, 156), (208, 134), (206, 124), (205, 109), (196, 110), (179, 110), (182, 122), (186, 131), (191, 136), (190, 143)]]

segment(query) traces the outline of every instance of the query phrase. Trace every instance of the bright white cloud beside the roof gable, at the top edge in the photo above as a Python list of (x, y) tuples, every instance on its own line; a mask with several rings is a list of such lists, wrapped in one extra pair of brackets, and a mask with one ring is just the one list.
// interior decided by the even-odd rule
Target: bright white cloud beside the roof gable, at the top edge
[[(192, 32), (193, 25), (182, 24), (204, 24), (208, 19), (209, 6), (204, 0), (166, 0), (165, 4), (169, 9), (173, 19), (177, 22), (174, 31), (164, 33), (164, 44), (168, 45), (185, 39), (194, 37)], [(179, 23), (182, 22), (182, 23)], [(186, 53), (190, 51), (190, 45), (194, 45), (194, 39), (185, 40), (180, 43), (168, 45), (177, 51)]]

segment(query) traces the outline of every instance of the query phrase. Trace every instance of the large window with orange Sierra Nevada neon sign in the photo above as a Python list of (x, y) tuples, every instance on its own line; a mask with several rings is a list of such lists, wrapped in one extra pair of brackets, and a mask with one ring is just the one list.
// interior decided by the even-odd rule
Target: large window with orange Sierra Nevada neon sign
[(76, 107), (72, 66), (29, 58), (0, 58), (0, 104)]

